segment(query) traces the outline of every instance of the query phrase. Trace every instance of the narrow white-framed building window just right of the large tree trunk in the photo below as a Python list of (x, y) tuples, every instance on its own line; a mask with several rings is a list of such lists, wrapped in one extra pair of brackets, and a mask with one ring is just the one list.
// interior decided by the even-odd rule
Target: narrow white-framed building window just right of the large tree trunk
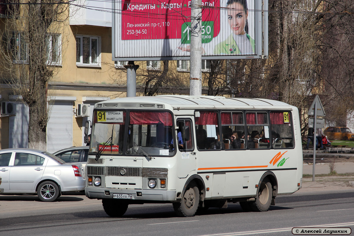
[(46, 45), (48, 65), (61, 65), (62, 36), (60, 34), (48, 34), (46, 37)]

